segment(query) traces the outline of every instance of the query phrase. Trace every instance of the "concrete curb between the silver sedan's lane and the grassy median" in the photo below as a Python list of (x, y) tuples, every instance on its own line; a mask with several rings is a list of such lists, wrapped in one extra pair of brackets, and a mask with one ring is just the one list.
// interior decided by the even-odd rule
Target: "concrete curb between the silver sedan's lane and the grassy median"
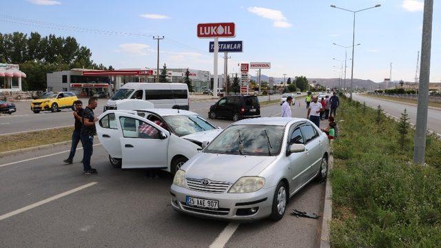
[(331, 247), (331, 242), (329, 240), (329, 223), (332, 219), (332, 187), (331, 179), (329, 179), (329, 172), (332, 170), (332, 165), (334, 164), (334, 157), (329, 155), (328, 161), (328, 176), (326, 178), (326, 189), (325, 189), (325, 203), (323, 204), (323, 217), (322, 217), (322, 231), (320, 234), (320, 248)]

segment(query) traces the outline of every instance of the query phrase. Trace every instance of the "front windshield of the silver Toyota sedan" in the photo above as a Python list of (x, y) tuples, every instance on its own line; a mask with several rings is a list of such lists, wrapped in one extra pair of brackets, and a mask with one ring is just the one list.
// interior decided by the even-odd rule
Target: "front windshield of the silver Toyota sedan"
[(284, 129), (283, 126), (274, 125), (232, 125), (209, 143), (204, 152), (277, 156), (282, 146)]

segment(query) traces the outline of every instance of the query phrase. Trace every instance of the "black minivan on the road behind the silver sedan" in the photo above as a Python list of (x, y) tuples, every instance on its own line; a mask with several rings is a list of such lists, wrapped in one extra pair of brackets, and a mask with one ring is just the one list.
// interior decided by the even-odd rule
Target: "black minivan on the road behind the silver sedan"
[(260, 117), (260, 104), (257, 96), (225, 96), (209, 107), (209, 118), (241, 118)]

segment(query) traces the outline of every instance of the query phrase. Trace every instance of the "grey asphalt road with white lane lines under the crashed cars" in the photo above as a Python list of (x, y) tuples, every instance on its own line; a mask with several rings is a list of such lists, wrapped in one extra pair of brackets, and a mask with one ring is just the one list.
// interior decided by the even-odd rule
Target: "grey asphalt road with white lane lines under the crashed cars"
[[(293, 116), (304, 117), (304, 107), (294, 106)], [(207, 115), (206, 108), (196, 112)], [(262, 114), (278, 116), (280, 105), (263, 107)], [(226, 127), (231, 121), (214, 123)], [(84, 175), (81, 154), (72, 165), (61, 162), (68, 149), (65, 145), (0, 159), (0, 247), (209, 247), (232, 227), (225, 247), (319, 245), (321, 219), (296, 218), (289, 212), (321, 215), (324, 183), (310, 183), (291, 198), (277, 223), (227, 223), (174, 211), (172, 176), (165, 172), (155, 180), (142, 170), (114, 169), (103, 147), (96, 145), (92, 166), (99, 174)]]

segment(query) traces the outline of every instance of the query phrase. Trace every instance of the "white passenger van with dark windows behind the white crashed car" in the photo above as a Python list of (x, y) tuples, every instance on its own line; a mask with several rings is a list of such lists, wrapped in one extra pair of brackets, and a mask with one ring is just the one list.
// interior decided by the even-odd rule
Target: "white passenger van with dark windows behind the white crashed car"
[(104, 106), (105, 110), (116, 110), (117, 103), (124, 99), (150, 101), (154, 108), (189, 110), (188, 86), (185, 83), (126, 83)]

